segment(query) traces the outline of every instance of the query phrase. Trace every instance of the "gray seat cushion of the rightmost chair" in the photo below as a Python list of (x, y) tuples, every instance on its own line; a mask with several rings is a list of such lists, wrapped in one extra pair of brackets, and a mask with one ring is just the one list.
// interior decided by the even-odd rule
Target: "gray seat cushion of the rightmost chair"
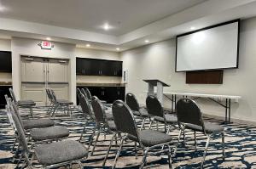
[[(205, 130), (207, 133), (223, 132), (224, 131), (224, 127), (219, 126), (217, 124), (213, 124), (211, 122), (205, 122), (204, 125), (205, 125)], [(191, 129), (191, 130), (195, 130), (197, 132), (203, 132), (202, 127), (198, 126), (198, 125), (187, 123), (185, 125), (185, 127), (188, 129)]]

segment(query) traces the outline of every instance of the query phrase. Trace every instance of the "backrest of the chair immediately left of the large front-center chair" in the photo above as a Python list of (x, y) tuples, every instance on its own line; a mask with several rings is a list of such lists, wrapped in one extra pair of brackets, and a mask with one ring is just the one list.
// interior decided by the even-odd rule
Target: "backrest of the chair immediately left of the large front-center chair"
[(94, 112), (94, 115), (96, 118), (96, 122), (98, 124), (100, 124), (100, 123), (106, 124), (107, 123), (106, 113), (105, 113), (105, 109), (104, 109), (104, 106), (103, 106), (101, 100), (98, 99), (96, 96), (93, 96), (91, 99), (91, 106), (92, 106), (92, 109), (93, 109), (93, 112)]

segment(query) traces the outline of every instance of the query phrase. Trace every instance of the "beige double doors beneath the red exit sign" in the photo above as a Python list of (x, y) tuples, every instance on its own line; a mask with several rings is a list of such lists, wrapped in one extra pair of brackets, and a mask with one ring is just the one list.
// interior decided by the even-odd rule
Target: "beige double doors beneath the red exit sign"
[(58, 99), (69, 99), (68, 60), (21, 56), (21, 99), (49, 104), (45, 88), (52, 88)]

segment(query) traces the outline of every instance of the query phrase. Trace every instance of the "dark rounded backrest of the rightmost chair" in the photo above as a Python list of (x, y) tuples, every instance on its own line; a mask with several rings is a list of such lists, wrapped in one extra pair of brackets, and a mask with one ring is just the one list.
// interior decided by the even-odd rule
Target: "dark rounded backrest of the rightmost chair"
[(190, 123), (203, 127), (204, 122), (201, 115), (201, 110), (194, 100), (179, 99), (176, 104), (177, 122)]

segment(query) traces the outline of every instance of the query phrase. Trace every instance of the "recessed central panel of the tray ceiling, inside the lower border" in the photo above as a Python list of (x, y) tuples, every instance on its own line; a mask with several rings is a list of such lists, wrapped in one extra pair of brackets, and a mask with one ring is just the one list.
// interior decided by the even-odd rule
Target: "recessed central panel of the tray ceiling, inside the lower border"
[[(120, 36), (206, 0), (2, 0), (0, 17)], [(104, 31), (105, 23), (113, 29)]]

